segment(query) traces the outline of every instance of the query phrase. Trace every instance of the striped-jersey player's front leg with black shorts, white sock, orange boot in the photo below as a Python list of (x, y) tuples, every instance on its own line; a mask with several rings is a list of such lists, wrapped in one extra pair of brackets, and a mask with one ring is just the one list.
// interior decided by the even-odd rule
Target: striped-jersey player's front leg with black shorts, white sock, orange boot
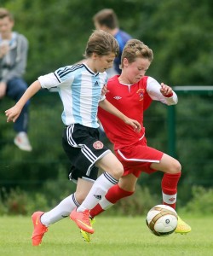
[[(89, 175), (93, 172), (93, 166), (100, 167), (104, 171), (96, 179), (81, 206), (70, 215), (80, 229), (93, 233), (94, 230), (89, 222), (89, 210), (101, 201), (108, 189), (118, 183), (124, 168), (112, 151), (99, 140), (98, 129), (78, 124), (70, 125), (66, 127), (63, 146), (72, 165), (80, 168), (82, 172)], [(80, 151), (77, 148), (80, 148)]]

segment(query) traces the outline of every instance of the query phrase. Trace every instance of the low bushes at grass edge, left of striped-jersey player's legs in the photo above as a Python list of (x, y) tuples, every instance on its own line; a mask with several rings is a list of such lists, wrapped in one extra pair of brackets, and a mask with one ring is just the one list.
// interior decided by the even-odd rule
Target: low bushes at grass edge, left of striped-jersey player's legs
[(43, 189), (37, 192), (26, 192), (26, 189), (2, 188), (0, 194), (0, 214), (7, 215), (31, 215), (38, 210), (47, 212), (55, 207), (66, 196), (71, 195), (75, 190), (72, 182), (64, 179), (57, 181), (49, 180)]

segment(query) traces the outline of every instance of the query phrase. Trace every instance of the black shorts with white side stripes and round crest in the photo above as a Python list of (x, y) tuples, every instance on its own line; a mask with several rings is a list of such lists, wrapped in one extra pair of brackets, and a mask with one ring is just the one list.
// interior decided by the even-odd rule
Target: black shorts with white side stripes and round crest
[(88, 177), (95, 180), (98, 175), (95, 162), (110, 152), (110, 149), (99, 140), (98, 129), (79, 124), (65, 128), (62, 145), (71, 160), (74, 179)]

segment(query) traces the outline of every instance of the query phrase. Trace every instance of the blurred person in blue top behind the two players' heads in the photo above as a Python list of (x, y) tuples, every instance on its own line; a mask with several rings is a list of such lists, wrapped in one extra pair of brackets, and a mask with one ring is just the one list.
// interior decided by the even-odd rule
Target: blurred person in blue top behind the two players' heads
[(113, 67), (107, 70), (107, 73), (109, 77), (112, 77), (115, 74), (120, 74), (121, 55), (126, 42), (132, 37), (130, 36), (130, 34), (124, 32), (119, 28), (118, 17), (113, 9), (101, 9), (93, 16), (93, 21), (96, 29), (101, 29), (110, 33), (118, 41), (118, 57), (115, 58)]

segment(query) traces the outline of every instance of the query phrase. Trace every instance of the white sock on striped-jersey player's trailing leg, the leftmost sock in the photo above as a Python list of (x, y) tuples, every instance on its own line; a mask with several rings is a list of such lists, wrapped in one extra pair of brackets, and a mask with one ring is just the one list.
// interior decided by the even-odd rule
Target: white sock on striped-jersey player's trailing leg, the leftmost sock
[(79, 207), (79, 204), (75, 199), (75, 194), (69, 195), (55, 208), (49, 212), (43, 213), (41, 223), (46, 227), (48, 227), (50, 224), (55, 224), (55, 222), (59, 221), (60, 219), (69, 216), (72, 210), (76, 207)]

